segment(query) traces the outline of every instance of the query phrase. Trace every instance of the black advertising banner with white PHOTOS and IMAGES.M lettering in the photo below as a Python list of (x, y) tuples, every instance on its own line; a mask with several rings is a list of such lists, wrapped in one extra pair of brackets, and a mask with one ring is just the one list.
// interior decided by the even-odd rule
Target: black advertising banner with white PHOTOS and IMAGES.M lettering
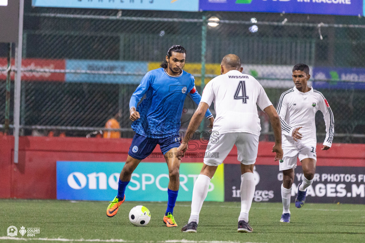
[[(254, 169), (256, 190), (254, 201), (281, 202), (283, 173), (277, 165), (256, 165)], [(224, 165), (224, 201), (241, 201), (241, 167)], [(295, 169), (292, 185), (294, 202), (298, 185), (303, 181), (301, 166)], [(342, 166), (317, 166), (313, 184), (307, 189), (306, 203), (356, 203), (365, 204), (365, 168)]]

